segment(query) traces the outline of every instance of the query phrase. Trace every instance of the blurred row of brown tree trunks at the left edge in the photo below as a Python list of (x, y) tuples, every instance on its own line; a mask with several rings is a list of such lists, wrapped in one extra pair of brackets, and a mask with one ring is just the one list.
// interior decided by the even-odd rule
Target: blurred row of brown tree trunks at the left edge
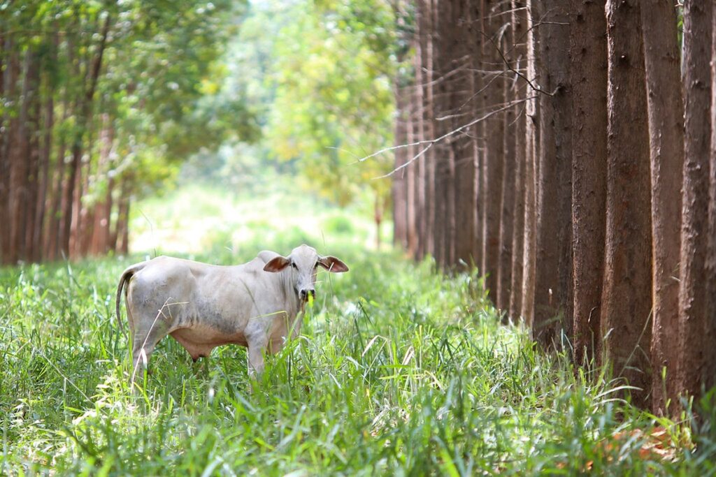
[(0, 31), (0, 263), (127, 252), (130, 174), (97, 114), (110, 22), (91, 44)]

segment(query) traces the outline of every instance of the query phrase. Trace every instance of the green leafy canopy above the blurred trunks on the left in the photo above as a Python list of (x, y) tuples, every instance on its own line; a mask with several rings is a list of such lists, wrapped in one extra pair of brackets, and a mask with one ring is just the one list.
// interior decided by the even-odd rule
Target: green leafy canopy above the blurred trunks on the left
[[(109, 177), (130, 176), (139, 192), (154, 190), (196, 152), (237, 137), (256, 139), (243, 97), (220, 94), (217, 87), (228, 73), (220, 60), (238, 31), (244, 5), (241, 0), (0, 2), (0, 31), (13, 42), (12, 51), (32, 49), (39, 55), (46, 78), (42, 94), (55, 104), (54, 147), (80, 142), (96, 164), (102, 144), (92, 139), (100, 129), (112, 129), (111, 172), (92, 174), (86, 200)], [(100, 50), (97, 86), (88, 96)], [(5, 62), (11, 54), (18, 53), (0, 49)], [(19, 101), (8, 96), (2, 104), (16, 114)]]

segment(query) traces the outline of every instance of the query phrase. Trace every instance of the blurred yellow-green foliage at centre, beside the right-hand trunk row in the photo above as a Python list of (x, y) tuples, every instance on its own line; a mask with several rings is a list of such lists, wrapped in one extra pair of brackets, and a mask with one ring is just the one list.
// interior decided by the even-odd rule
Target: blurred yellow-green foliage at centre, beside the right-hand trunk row
[(387, 1), (301, 0), (252, 4), (241, 26), (232, 84), (256, 105), (266, 155), (339, 205), (364, 188), (389, 197), (375, 179), (392, 155), (357, 159), (392, 142), (398, 21)]

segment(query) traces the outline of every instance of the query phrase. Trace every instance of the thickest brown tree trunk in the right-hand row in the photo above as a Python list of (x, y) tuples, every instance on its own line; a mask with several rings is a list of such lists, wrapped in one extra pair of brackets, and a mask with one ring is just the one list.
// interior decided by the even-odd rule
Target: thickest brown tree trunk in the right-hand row
[(601, 334), (616, 375), (648, 404), (652, 310), (649, 132), (639, 1), (606, 4), (609, 114)]

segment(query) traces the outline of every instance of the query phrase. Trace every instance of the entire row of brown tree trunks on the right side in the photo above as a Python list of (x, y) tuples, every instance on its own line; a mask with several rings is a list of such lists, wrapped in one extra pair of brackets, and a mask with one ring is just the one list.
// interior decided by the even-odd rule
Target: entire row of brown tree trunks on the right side
[(657, 413), (716, 384), (712, 9), (420, 0), (397, 89), (396, 242)]

